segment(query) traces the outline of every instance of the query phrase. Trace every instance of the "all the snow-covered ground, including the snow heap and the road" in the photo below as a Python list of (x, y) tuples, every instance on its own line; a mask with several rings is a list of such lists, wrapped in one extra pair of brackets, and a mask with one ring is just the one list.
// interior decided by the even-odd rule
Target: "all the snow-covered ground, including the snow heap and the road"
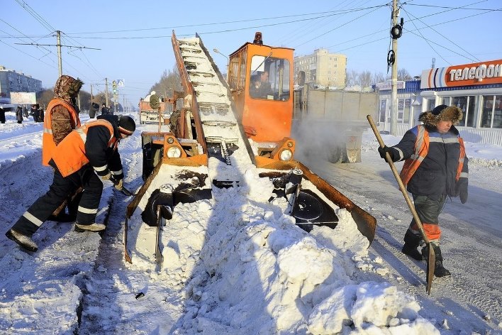
[[(87, 116), (81, 116), (87, 121)], [(502, 148), (467, 143), (469, 201), (440, 216), (445, 266), (425, 293), (425, 263), (400, 252), (411, 214), (376, 140), (364, 134), (362, 163), (303, 163), (376, 217), (372, 246), (345, 210), (334, 231), (295, 226), (243, 171), (248, 187), (180, 204), (152, 257), (123, 257), (125, 207), (105, 185), (99, 234), (46, 222), (25, 253), (4, 233), (52, 182), (40, 164), (42, 123), (0, 124), (1, 334), (502, 334)], [(140, 131), (119, 145), (125, 185), (143, 184)], [(384, 136), (392, 145), (394, 136)], [(152, 245), (145, 236), (136, 243)], [(366, 243), (366, 244), (365, 244)]]

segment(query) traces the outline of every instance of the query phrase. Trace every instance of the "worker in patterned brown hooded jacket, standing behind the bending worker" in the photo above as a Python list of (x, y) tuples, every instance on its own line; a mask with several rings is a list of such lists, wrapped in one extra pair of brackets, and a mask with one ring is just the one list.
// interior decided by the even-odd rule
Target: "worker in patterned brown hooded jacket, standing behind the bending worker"
[[(49, 160), (56, 146), (73, 129), (80, 126), (77, 96), (82, 84), (84, 83), (80, 79), (74, 79), (69, 75), (57, 78), (54, 97), (49, 102), (43, 119), (42, 164), (45, 166), (49, 166)], [(74, 221), (77, 216), (75, 204), (78, 204), (82, 196), (81, 192), (82, 189), (79, 189), (74, 194), (69, 194), (69, 197), (55, 209), (49, 219), (59, 222)], [(67, 205), (69, 214), (65, 213)]]

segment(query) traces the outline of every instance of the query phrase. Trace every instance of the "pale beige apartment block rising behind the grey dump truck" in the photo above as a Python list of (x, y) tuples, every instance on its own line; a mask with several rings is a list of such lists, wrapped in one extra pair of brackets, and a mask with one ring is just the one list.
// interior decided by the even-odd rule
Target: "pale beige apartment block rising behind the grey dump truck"
[(310, 55), (294, 57), (294, 73), (305, 72), (305, 81), (317, 86), (345, 87), (347, 56), (316, 49)]

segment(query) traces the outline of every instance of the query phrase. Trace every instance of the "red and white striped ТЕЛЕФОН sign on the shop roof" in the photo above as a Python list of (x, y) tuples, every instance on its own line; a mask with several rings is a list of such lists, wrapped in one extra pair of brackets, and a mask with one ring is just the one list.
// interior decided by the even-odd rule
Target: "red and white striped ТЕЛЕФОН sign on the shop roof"
[(502, 83), (502, 60), (489, 60), (422, 71), (420, 89)]

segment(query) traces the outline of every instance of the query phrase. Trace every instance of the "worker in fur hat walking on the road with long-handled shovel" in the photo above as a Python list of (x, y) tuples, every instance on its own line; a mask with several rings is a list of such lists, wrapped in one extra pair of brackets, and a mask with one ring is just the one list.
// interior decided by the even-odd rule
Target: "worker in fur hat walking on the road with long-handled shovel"
[[(423, 124), (408, 130), (401, 141), (387, 147), (381, 140), (371, 116), (367, 119), (379, 141), (379, 153), (391, 166), (399, 188), (413, 214), (413, 220), (404, 236), (402, 252), (428, 261), (427, 291), (430, 294), (433, 275), (450, 275), (443, 264), (439, 246), (441, 230), (438, 216), (447, 197), (460, 197), (467, 202), (468, 159), (464, 142), (453, 125), (462, 120), (457, 106), (437, 106), (420, 114)], [(401, 174), (393, 162), (405, 160)], [(413, 195), (413, 203), (406, 192)], [(425, 247), (420, 253), (420, 244)]]

